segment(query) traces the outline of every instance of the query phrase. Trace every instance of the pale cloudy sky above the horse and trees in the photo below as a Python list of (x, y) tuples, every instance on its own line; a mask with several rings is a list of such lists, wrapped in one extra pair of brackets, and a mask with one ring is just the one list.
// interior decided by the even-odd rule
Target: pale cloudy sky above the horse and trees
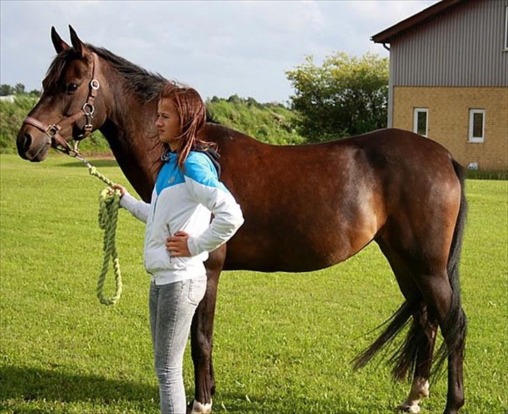
[(0, 83), (40, 89), (55, 52), (51, 26), (167, 79), (204, 99), (237, 93), (288, 102), (285, 72), (313, 56), (373, 52), (371, 36), (437, 0), (418, 1), (0, 1)]

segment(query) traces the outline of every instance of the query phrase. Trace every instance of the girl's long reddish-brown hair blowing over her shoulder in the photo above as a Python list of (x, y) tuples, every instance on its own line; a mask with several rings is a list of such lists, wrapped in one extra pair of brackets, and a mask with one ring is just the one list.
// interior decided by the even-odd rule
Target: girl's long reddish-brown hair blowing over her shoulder
[(181, 130), (178, 137), (181, 140), (177, 150), (178, 166), (183, 170), (188, 153), (196, 146), (200, 149), (216, 148), (215, 143), (197, 139), (198, 132), (207, 123), (207, 108), (195, 89), (173, 83), (164, 85), (159, 96), (161, 99), (171, 99), (177, 108)]

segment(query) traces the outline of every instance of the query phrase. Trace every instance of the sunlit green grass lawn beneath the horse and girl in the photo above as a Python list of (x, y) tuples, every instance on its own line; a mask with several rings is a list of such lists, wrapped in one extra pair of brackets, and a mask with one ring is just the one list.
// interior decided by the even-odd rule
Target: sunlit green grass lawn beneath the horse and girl
[[(94, 163), (126, 183), (114, 161)], [(97, 199), (103, 183), (61, 155), (40, 164), (2, 155), (0, 166), (0, 411), (157, 413), (143, 224), (120, 212), (124, 293), (117, 305), (100, 305)], [(508, 182), (466, 185), (461, 282), (469, 331), (461, 412), (507, 413)], [(314, 273), (223, 273), (214, 412), (393, 412), (408, 383), (391, 383), (380, 358), (357, 372), (350, 361), (375, 339), (366, 332), (401, 302), (375, 244)], [(191, 399), (188, 351), (184, 376)], [(442, 412), (445, 399), (443, 375), (431, 385), (422, 413)]]

